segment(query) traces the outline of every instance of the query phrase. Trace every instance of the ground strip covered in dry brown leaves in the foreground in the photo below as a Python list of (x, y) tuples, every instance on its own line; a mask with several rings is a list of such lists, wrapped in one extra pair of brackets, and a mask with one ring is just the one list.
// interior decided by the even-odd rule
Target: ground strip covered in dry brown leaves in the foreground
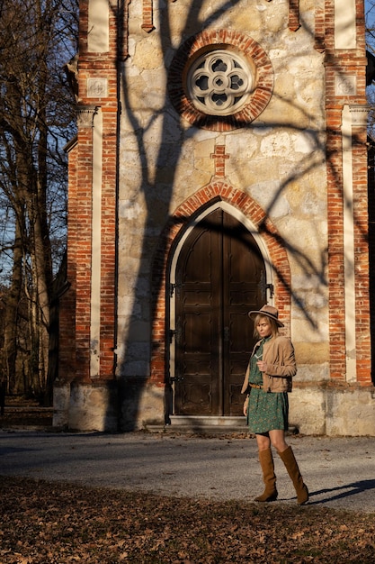
[(0, 480), (2, 564), (372, 564), (375, 558), (374, 514)]

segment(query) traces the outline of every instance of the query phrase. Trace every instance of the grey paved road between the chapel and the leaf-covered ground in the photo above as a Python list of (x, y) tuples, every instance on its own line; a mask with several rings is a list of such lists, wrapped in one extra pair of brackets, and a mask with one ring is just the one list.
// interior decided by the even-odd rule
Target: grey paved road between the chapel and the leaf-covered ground
[[(375, 438), (289, 437), (308, 505), (375, 514)], [(296, 498), (275, 457), (278, 504)], [(0, 431), (0, 476), (25, 476), (168, 496), (253, 500), (263, 491), (254, 438), (169, 433)]]

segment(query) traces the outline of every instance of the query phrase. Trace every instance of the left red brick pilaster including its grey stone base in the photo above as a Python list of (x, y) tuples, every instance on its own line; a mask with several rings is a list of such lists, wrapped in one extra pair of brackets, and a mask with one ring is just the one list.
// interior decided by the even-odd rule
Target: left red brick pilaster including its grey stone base
[(77, 430), (114, 431), (118, 425), (115, 304), (120, 37), (118, 14), (107, 0), (81, 0), (77, 137), (69, 154), (70, 288), (61, 304), (62, 349), (54, 397), (55, 424)]

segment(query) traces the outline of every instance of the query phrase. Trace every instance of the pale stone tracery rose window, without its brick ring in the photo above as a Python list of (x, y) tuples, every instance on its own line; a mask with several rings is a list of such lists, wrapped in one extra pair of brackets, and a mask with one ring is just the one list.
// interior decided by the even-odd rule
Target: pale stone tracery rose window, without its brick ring
[(210, 51), (192, 64), (187, 87), (192, 104), (201, 112), (234, 114), (253, 90), (253, 73), (247, 62), (230, 50)]

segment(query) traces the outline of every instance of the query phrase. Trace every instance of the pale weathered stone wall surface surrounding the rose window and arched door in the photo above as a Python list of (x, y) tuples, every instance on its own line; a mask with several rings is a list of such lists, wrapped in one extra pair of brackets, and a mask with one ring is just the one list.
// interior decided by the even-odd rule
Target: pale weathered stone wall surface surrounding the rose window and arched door
[[(312, 378), (320, 379), (320, 372), (326, 371), (321, 368), (328, 361), (328, 345), (322, 345), (328, 341), (326, 197), (322, 194), (326, 186), (325, 68), (324, 54), (314, 49), (318, 7), (315, 2), (300, 3), (301, 24), (291, 31), (288, 1), (238, 2), (221, 11), (211, 2), (202, 2), (195, 12), (191, 3), (175, 2), (164, 12), (154, 13), (156, 29), (145, 34), (141, 5), (138, 9), (129, 6), (129, 59), (122, 85), (127, 110), (121, 119), (120, 154), (120, 233), (124, 236), (120, 234), (119, 319), (124, 377), (150, 372), (155, 378), (157, 358), (151, 370), (147, 364), (151, 350), (145, 321), (152, 323), (148, 296), (160, 228), (171, 215), (183, 213), (183, 204), (218, 177), (218, 161), (212, 155), (219, 145), (225, 147), (226, 183), (244, 199), (242, 203), (233, 198), (227, 201), (254, 226), (261, 220), (246, 210), (245, 200), (259, 205), (289, 247), (293, 295), (295, 303), (303, 305), (293, 306), (292, 336), (304, 364), (318, 367), (319, 376)], [(207, 29), (201, 32), (200, 22), (206, 21)], [(183, 74), (180, 68), (186, 53), (193, 56), (194, 50), (215, 41), (241, 50), (244, 37), (254, 42), (250, 57), (257, 48), (271, 63), (264, 73), (272, 81), (271, 99), (254, 120), (244, 119), (245, 127), (236, 127), (231, 120), (219, 124), (211, 120), (202, 129), (199, 115), (189, 116), (189, 107), (179, 112), (175, 107), (178, 86), (174, 88), (174, 83)], [(169, 96), (171, 90), (173, 96)], [(212, 197), (210, 190), (206, 193), (199, 205)], [(277, 260), (274, 269), (276, 284)], [(161, 293), (163, 288), (156, 291)], [(281, 310), (282, 297), (281, 290), (275, 296)], [(161, 302), (156, 302), (160, 314), (155, 323), (165, 317)], [(154, 336), (163, 332), (155, 323)], [(164, 342), (154, 345), (160, 356)], [(157, 381), (163, 382), (162, 378)]]

